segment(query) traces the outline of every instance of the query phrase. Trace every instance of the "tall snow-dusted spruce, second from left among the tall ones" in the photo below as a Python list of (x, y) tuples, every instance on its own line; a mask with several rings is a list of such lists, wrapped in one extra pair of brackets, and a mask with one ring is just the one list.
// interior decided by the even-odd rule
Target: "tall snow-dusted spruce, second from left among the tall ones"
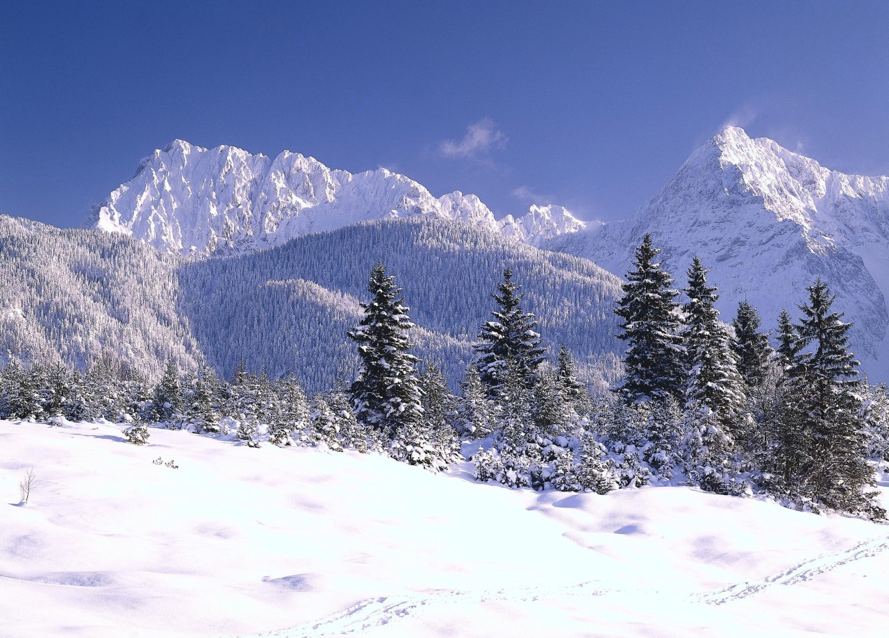
[(498, 309), (493, 311), (494, 321), (482, 326), (478, 335), (481, 343), (476, 346), (477, 362), (482, 383), (488, 396), (497, 396), (508, 375), (508, 364), (531, 387), (537, 367), (543, 360), (541, 335), (534, 331), (537, 321), (532, 313), (526, 313), (521, 302), (525, 297), (521, 286), (513, 283), (512, 270), (503, 270), (503, 282), (493, 294)]

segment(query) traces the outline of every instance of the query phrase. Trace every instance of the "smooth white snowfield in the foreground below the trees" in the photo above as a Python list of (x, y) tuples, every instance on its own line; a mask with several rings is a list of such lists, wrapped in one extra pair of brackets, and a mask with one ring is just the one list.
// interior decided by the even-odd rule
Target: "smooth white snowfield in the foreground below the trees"
[(885, 632), (889, 528), (859, 519), (105, 423), (0, 421), (0, 449), (3, 636)]

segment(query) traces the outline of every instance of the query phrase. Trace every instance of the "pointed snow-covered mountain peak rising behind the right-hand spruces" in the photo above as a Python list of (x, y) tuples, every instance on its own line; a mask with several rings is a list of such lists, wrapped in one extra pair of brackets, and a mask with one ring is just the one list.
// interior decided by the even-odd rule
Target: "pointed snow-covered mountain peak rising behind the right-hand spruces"
[(821, 276), (853, 322), (852, 347), (872, 379), (889, 378), (889, 178), (830, 171), (773, 140), (728, 127), (625, 221), (546, 243), (626, 273), (645, 233), (685, 287), (693, 255), (712, 268), (729, 321), (747, 298), (773, 325), (798, 315)]

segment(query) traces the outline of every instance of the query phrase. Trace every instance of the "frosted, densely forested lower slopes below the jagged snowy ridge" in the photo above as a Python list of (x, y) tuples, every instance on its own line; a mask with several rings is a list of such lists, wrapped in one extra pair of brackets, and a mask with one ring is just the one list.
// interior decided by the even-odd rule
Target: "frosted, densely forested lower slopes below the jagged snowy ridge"
[(273, 378), (295, 372), (309, 391), (355, 371), (346, 331), (360, 316), (380, 260), (404, 286), (416, 354), (440, 360), (452, 387), (493, 309), (502, 268), (525, 285), (553, 349), (577, 356), (581, 377), (612, 376), (619, 280), (586, 259), (540, 251), (496, 231), (436, 219), (372, 221), (305, 235), (276, 249), (185, 261), (120, 234), (59, 230), (0, 218), (0, 357), (105, 357), (156, 379), (172, 358), (206, 361), (225, 378), (243, 357)]

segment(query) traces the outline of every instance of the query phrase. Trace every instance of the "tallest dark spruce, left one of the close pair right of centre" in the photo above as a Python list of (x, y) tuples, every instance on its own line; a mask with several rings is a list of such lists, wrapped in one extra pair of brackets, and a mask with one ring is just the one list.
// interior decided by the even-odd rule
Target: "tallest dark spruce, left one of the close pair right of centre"
[(626, 379), (618, 391), (630, 403), (683, 394), (683, 348), (674, 300), (679, 291), (670, 288), (672, 277), (654, 261), (659, 252), (651, 235), (645, 235), (614, 309), (623, 320), (618, 338), (628, 343)]

